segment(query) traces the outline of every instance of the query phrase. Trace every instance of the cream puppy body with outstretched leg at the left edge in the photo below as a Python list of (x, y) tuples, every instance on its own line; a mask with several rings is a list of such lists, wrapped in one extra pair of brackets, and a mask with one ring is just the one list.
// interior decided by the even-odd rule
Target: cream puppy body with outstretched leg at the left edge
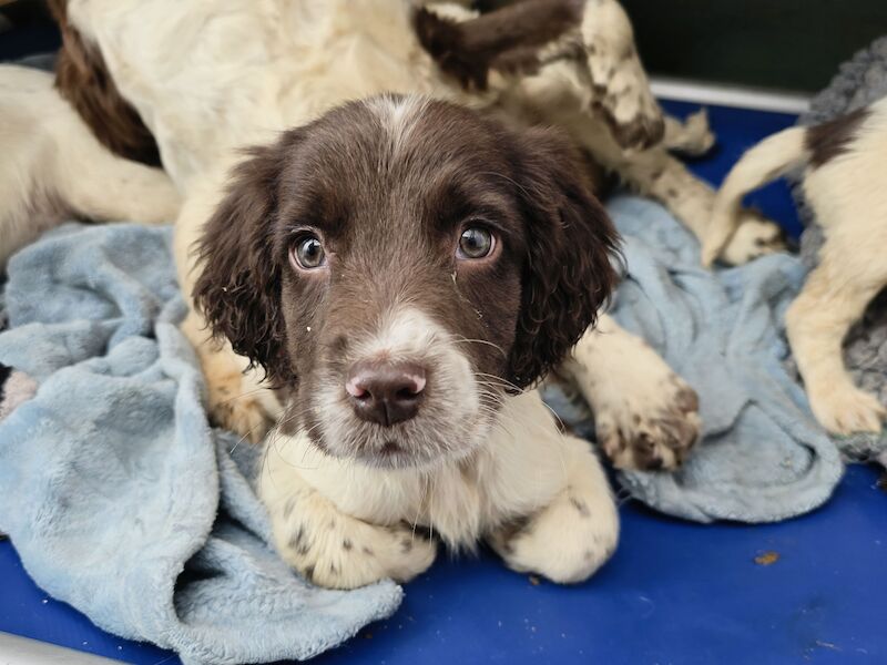
[(0, 267), (65, 218), (173, 222), (164, 173), (113, 156), (39, 70), (0, 66)]

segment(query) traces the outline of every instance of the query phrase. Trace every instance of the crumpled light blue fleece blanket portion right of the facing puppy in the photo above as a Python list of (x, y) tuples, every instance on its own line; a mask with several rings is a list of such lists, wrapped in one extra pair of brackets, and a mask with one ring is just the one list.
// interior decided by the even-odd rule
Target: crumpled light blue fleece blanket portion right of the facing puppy
[[(834, 444), (783, 367), (783, 316), (805, 268), (787, 254), (710, 273), (693, 235), (664, 208), (619, 196), (628, 275), (611, 314), (700, 395), (703, 440), (674, 473), (619, 475), (632, 497), (707, 522), (772, 522), (824, 503), (840, 479)], [(558, 388), (547, 398), (580, 431), (590, 415)]]

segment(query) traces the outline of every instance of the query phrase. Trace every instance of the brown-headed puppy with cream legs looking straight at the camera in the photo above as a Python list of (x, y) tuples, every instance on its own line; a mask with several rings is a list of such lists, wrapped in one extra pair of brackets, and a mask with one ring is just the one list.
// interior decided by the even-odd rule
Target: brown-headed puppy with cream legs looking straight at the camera
[(558, 133), (396, 95), (237, 166), (195, 298), (288, 396), (259, 493), (308, 580), (409, 580), (436, 553), (417, 525), (557, 582), (612, 554), (598, 459), (528, 389), (582, 352), (616, 280), (582, 173)]

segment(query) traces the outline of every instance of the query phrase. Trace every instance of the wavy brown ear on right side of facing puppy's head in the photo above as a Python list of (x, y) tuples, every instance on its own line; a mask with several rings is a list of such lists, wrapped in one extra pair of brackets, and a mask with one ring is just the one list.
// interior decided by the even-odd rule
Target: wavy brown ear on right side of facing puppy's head
[(533, 129), (519, 151), (527, 263), (511, 380), (523, 388), (561, 362), (597, 320), (619, 278), (611, 263), (619, 236), (567, 139)]

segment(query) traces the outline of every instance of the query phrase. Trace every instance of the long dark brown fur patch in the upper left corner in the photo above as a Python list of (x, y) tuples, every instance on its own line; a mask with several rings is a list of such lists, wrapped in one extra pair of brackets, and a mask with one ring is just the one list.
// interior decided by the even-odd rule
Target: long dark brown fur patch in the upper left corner
[(151, 166), (160, 165), (154, 137), (120, 94), (101, 52), (68, 22), (68, 0), (48, 0), (48, 4), (62, 34), (55, 64), (59, 92), (111, 152)]

